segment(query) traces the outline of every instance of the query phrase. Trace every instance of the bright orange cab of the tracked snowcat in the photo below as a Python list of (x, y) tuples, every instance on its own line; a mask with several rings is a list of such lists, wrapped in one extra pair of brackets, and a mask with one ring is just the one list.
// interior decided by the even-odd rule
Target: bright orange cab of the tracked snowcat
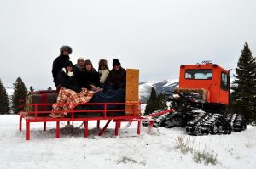
[(179, 91), (201, 91), (207, 104), (229, 104), (230, 71), (210, 61), (181, 65)]

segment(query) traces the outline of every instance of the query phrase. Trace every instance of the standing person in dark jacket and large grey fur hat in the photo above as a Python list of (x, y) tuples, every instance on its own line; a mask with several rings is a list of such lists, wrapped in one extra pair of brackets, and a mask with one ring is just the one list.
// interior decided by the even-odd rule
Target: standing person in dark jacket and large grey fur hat
[(58, 56), (54, 61), (52, 65), (52, 76), (53, 81), (55, 82), (55, 87), (58, 87), (60, 85), (60, 82), (57, 81), (57, 75), (58, 72), (63, 68), (65, 63), (69, 60), (69, 54), (72, 53), (72, 48), (69, 46), (62, 46), (60, 48), (60, 56)]

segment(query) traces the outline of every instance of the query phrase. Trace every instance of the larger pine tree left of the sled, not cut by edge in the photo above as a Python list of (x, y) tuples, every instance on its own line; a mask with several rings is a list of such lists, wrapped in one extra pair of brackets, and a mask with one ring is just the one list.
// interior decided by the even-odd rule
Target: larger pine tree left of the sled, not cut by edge
[(26, 86), (24, 82), (22, 82), (22, 79), (18, 77), (14, 83), (14, 94), (12, 95), (12, 110), (15, 114), (23, 109), (22, 107), (19, 107), (19, 105), (23, 104), (20, 100), (26, 99), (26, 95)]

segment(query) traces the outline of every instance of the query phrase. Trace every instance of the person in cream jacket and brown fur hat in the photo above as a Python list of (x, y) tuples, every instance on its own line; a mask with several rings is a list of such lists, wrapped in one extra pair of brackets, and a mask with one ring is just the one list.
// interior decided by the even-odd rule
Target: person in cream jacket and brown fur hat
[(109, 74), (108, 61), (106, 59), (100, 59), (98, 72), (100, 76), (101, 88), (104, 88)]

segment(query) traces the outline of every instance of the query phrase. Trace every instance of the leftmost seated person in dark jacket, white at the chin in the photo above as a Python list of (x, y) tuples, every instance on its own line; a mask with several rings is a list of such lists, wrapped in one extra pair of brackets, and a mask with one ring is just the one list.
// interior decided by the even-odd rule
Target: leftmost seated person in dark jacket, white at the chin
[(82, 91), (81, 87), (79, 87), (79, 83), (77, 82), (76, 77), (74, 76), (73, 64), (69, 60), (65, 63), (62, 70), (59, 71), (57, 80), (60, 82), (61, 87), (73, 90), (76, 93)]

